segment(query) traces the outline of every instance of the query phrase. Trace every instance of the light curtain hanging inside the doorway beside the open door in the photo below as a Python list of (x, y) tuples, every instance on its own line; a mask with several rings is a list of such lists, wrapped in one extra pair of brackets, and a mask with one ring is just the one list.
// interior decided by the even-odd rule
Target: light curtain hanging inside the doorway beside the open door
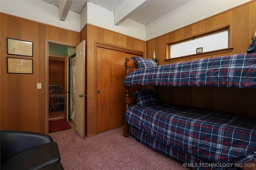
[(73, 106), (71, 110), (70, 119), (74, 119), (76, 116), (76, 57), (74, 57), (71, 61), (71, 81), (70, 81), (70, 91), (71, 98), (73, 100)]

